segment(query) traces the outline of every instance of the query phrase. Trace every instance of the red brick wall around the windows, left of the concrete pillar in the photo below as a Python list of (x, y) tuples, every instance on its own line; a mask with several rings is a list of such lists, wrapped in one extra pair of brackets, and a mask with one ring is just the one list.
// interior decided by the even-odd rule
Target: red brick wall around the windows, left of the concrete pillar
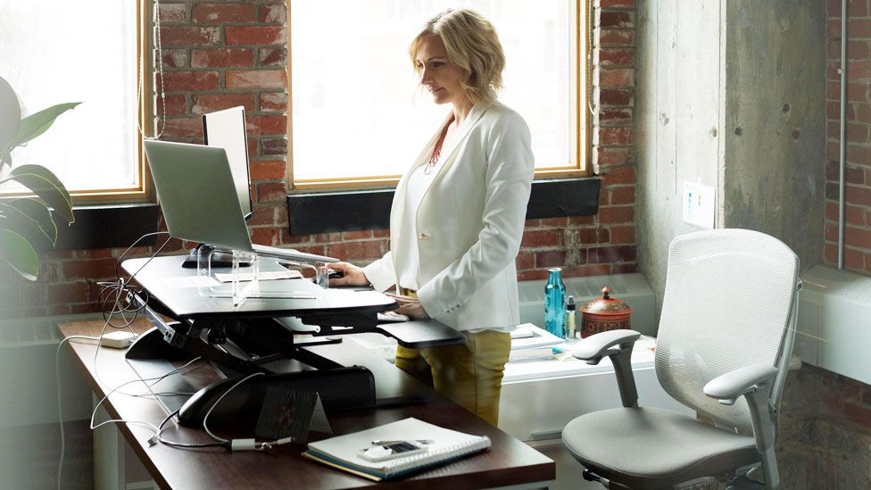
[[(545, 278), (559, 266), (567, 277), (635, 271), (634, 0), (598, 0), (593, 45), (593, 163), (602, 177), (596, 216), (529, 220), (517, 258), (518, 278)], [(600, 8), (601, 7), (601, 8)], [(293, 246), (368, 263), (388, 246), (385, 229), (294, 236), (286, 208), (286, 29), (283, 1), (161, 2), (165, 97), (155, 100), (162, 139), (199, 142), (200, 114), (244, 105), (253, 179), (253, 241)], [(601, 24), (601, 28), (598, 27)], [(155, 74), (155, 86), (159, 87)], [(60, 230), (62, 233), (62, 230)], [(160, 242), (158, 242), (160, 243)], [(133, 256), (153, 253), (138, 247)], [(170, 253), (182, 244), (173, 241)], [(55, 251), (43, 255), (36, 283), (0, 268), (0, 317), (96, 311), (95, 282), (114, 277), (123, 249)]]

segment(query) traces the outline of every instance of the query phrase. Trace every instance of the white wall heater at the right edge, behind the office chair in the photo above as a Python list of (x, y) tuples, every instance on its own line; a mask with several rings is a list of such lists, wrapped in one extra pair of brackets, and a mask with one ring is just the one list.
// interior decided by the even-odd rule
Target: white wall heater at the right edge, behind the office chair
[(871, 277), (817, 266), (801, 280), (795, 353), (803, 362), (871, 384)]

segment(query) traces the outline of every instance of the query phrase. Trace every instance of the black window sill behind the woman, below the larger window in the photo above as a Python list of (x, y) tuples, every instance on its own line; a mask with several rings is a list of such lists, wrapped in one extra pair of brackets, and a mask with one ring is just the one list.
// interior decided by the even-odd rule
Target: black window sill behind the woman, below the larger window
[[(599, 212), (601, 179), (540, 179), (532, 184), (527, 220)], [(390, 228), (394, 189), (294, 192), (287, 195), (292, 235)]]

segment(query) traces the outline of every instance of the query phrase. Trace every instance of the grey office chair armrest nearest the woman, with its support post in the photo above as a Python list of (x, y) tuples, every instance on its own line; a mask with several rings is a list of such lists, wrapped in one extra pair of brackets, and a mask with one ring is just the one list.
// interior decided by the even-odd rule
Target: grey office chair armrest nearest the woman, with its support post
[(610, 357), (624, 407), (638, 406), (638, 391), (632, 374), (632, 346), (639, 336), (641, 334), (635, 330), (608, 330), (586, 337), (572, 349), (572, 355), (587, 364), (596, 365), (606, 355)]

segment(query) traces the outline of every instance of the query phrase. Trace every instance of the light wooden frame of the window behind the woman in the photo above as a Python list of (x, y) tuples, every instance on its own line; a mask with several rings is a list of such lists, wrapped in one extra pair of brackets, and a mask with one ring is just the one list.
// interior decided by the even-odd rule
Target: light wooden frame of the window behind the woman
[[(593, 42), (591, 38), (591, 0), (571, 0), (574, 2), (574, 35), (570, 56), (572, 66), (572, 96), (575, 113), (576, 137), (571, 141), (570, 153), (574, 156), (574, 167), (544, 167), (535, 169), (535, 179), (571, 179), (593, 177), (593, 114), (589, 110), (592, 102), (592, 64)], [(401, 175), (368, 177), (346, 177), (340, 179), (294, 178), (294, 111), (293, 111), (293, 49), (291, 46), (291, 11), (293, 0), (286, 0), (287, 9), (287, 179), (288, 189), (296, 192), (336, 191), (354, 189), (373, 189), (396, 187)]]

